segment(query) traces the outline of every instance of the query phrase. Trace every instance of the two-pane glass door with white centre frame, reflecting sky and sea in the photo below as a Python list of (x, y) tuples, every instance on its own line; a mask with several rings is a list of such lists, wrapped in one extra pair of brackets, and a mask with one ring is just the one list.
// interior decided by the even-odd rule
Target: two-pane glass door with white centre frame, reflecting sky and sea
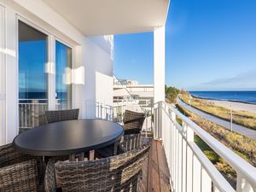
[[(18, 27), (19, 126), (24, 131), (39, 125), (48, 108), (72, 108), (73, 49), (20, 20)], [(49, 47), (54, 44), (55, 49)]]

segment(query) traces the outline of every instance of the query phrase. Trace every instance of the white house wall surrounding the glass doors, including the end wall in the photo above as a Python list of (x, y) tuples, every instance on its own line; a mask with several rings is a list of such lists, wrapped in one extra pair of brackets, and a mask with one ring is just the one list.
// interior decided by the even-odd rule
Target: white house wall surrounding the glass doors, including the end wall
[[(3, 47), (5, 52), (2, 51), (0, 55), (1, 82), (6, 84), (6, 87), (0, 86), (0, 96), (2, 98), (6, 94), (6, 101), (0, 99), (0, 119), (2, 118), (0, 123), (0, 144), (11, 143), (18, 134), (17, 15), (73, 47), (73, 108), (80, 108), (80, 117), (89, 118), (86, 103), (96, 102), (97, 96), (99, 97), (99, 94), (96, 94), (96, 86), (103, 85), (106, 90), (108, 90), (109, 86), (109, 90), (113, 90), (113, 84), (109, 84), (109, 79), (112, 79), (113, 74), (113, 41), (109, 41), (111, 37), (84, 37), (67, 20), (57, 15), (53, 9), (50, 9), (41, 0), (0, 0), (0, 6), (6, 9), (6, 23), (4, 25), (6, 27), (6, 46), (5, 48)], [(1, 20), (3, 10), (2, 7), (0, 8)], [(3, 23), (1, 20), (2, 25)], [(1, 42), (3, 43), (4, 41)], [(2, 44), (0, 45), (1, 47), (3, 46)], [(5, 61), (2, 62), (3, 58), (5, 58)], [(4, 66), (6, 66), (5, 78), (2, 75)], [(108, 80), (99, 82), (96, 80), (99, 79), (99, 75), (96, 75), (96, 73), (101, 73)], [(112, 94), (111, 91), (105, 93), (105, 96), (113, 98), (113, 95), (110, 96), (108, 94)], [(2, 103), (6, 103), (6, 108)], [(90, 108), (89, 110), (93, 111), (95, 109)], [(2, 112), (6, 112), (5, 117)], [(4, 123), (4, 119), (6, 119), (6, 123)]]

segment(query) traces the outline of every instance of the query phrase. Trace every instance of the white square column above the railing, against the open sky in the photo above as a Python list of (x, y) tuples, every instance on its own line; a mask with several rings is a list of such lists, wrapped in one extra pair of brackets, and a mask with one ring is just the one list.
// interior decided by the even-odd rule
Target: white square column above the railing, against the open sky
[(154, 103), (165, 101), (166, 27), (154, 29)]

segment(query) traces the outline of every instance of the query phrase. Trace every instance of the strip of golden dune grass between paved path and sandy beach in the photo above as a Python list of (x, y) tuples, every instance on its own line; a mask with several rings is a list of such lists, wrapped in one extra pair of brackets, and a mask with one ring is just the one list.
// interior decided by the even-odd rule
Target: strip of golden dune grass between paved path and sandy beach
[[(230, 108), (224, 108), (212, 102), (206, 102), (203, 99), (190, 97), (188, 94), (182, 94), (180, 98), (187, 104), (189, 104), (190, 100), (192, 107), (203, 112), (211, 113), (221, 119), (230, 120)], [(232, 110), (232, 116), (234, 123), (256, 130), (256, 113)]]

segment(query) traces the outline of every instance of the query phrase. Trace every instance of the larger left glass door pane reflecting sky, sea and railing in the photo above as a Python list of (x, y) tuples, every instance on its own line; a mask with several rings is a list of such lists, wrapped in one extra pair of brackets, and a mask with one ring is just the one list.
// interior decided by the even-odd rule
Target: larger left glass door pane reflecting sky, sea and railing
[(19, 20), (20, 131), (37, 126), (39, 113), (48, 108), (47, 35)]

